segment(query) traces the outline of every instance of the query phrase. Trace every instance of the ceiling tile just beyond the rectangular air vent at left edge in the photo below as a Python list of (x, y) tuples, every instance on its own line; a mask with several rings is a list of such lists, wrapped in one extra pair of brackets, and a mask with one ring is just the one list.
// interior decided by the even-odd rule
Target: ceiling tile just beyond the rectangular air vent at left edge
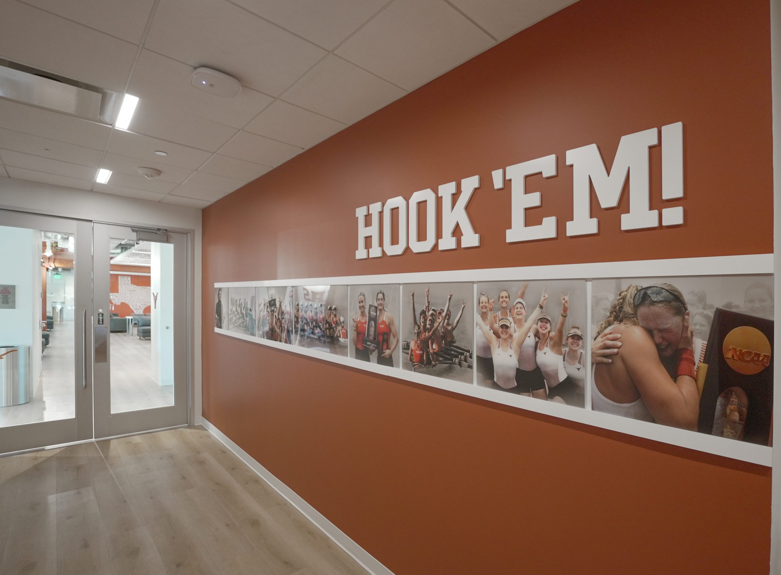
[[(0, 19), (2, 20), (2, 19)], [(0, 128), (103, 150), (110, 126), (0, 98)]]

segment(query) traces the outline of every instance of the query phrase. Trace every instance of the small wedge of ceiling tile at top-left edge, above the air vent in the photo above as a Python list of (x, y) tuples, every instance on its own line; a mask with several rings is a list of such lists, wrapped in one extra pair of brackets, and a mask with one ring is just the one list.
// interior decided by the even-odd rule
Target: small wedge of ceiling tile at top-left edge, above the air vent
[(48, 12), (137, 44), (155, 0), (24, 0)]

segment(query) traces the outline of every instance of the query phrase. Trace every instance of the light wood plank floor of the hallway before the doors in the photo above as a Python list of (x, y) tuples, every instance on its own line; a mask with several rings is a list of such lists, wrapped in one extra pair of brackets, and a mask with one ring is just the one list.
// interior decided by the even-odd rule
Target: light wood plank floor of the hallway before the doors
[(202, 427), (0, 458), (0, 573), (368, 573)]

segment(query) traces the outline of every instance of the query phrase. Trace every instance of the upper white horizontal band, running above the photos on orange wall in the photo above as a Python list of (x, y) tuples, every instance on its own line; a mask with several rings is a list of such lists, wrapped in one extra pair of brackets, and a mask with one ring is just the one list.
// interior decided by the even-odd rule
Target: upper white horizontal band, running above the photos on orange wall
[(773, 273), (772, 254), (707, 258), (647, 259), (632, 262), (567, 263), (555, 266), (498, 267), (489, 270), (381, 273), (366, 276), (308, 277), (290, 280), (223, 281), (215, 288), (282, 285), (437, 284), (456, 281), (590, 280), (600, 277), (734, 276)]

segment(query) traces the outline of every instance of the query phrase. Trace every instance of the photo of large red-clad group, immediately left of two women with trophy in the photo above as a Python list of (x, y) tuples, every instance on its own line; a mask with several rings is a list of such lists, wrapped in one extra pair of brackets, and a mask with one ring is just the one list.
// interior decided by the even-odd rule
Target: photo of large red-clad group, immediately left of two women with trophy
[(294, 305), (296, 345), (348, 355), (348, 324), (344, 320), (348, 287), (299, 286)]

